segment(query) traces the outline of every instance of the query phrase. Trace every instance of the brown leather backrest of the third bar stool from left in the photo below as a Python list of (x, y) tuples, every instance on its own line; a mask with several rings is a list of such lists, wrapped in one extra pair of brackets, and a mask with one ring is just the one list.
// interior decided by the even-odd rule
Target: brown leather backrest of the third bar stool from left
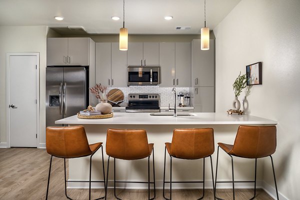
[(174, 129), (170, 155), (183, 159), (199, 159), (214, 152), (212, 128)]

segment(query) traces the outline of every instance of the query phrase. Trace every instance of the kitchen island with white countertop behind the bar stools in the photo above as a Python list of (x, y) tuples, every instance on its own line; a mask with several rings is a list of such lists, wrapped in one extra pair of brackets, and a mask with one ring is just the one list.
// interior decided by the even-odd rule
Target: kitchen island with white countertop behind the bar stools
[[(186, 114), (186, 113), (185, 113)], [(237, 128), (241, 124), (246, 125), (275, 125), (277, 121), (252, 115), (237, 115), (227, 113), (204, 113), (196, 112), (185, 116), (153, 116), (150, 113), (113, 113), (113, 117), (105, 119), (79, 119), (76, 115), (55, 121), (58, 124), (83, 125), (89, 143), (103, 142), (105, 152), (105, 140), (107, 128), (142, 128), (147, 131), (148, 142), (154, 143), (155, 178), (156, 187), (162, 188), (164, 142), (170, 142), (174, 128), (203, 128), (211, 127), (214, 130), (215, 152), (212, 155), (213, 168), (215, 170), (217, 142), (233, 144)], [(92, 179), (102, 179), (100, 151), (95, 153), (92, 161)], [(104, 153), (105, 170), (107, 166), (107, 155)], [(168, 158), (168, 156), (167, 156)], [(150, 158), (152, 159), (152, 158)], [(234, 177), (236, 180), (252, 180), (254, 176), (254, 161), (251, 159), (234, 158), (236, 165)], [(142, 160), (117, 160), (116, 176), (120, 180), (142, 181), (147, 179), (147, 159)], [(88, 179), (88, 158), (75, 158), (69, 160), (69, 179)], [(262, 159), (257, 162), (257, 186), (262, 182)], [(202, 179), (202, 160), (180, 160), (173, 159), (173, 180), (199, 180)], [(166, 161), (166, 170), (169, 171), (169, 159)], [(110, 168), (111, 167), (111, 168)], [(150, 170), (151, 171), (151, 170)], [(169, 178), (168, 172), (166, 179)], [(150, 174), (150, 177), (151, 174)], [(230, 158), (227, 154), (219, 153), (219, 180), (230, 180), (231, 167)], [(93, 183), (92, 187), (102, 187), (100, 183)], [(113, 186), (113, 164), (109, 165), (108, 186)], [(147, 188), (147, 184), (119, 184), (118, 187), (125, 188)], [(197, 184), (174, 184), (173, 188), (194, 188)], [(219, 184), (218, 188), (229, 187), (230, 183)], [(249, 187), (251, 183), (236, 183), (236, 187)], [(70, 182), (68, 187), (87, 188), (88, 184)], [(209, 161), (205, 162), (205, 187), (212, 188)]]

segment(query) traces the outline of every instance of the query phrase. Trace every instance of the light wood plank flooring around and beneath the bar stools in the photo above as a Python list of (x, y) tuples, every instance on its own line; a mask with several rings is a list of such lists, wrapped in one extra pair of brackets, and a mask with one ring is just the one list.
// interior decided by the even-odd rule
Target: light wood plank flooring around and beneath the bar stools
[[(0, 199), (45, 199), (50, 155), (45, 149), (0, 148)], [(172, 190), (172, 199), (196, 199), (201, 189)], [(265, 191), (256, 191), (257, 200), (272, 199)], [(88, 199), (88, 189), (68, 189), (74, 199)], [(92, 189), (91, 197), (104, 195), (102, 189)], [(147, 199), (147, 190), (120, 189), (117, 195), (123, 199)], [(152, 192), (151, 192), (152, 195)], [(166, 192), (168, 196), (168, 192)], [(236, 189), (235, 199), (249, 199), (251, 189)], [(232, 199), (231, 189), (217, 189), (217, 196)], [(63, 159), (53, 157), (49, 188), (49, 200), (66, 199), (64, 196)], [(108, 189), (107, 199), (115, 199), (113, 190)], [(156, 190), (157, 200), (162, 200), (162, 190)], [(212, 189), (205, 189), (204, 199), (213, 199)]]

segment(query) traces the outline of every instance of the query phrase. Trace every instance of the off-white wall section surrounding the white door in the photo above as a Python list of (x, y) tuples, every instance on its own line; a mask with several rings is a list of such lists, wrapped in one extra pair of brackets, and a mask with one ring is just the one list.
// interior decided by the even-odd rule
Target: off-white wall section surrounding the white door
[(46, 26), (0, 26), (0, 141), (6, 142), (6, 52), (39, 52), (40, 143), (45, 143)]

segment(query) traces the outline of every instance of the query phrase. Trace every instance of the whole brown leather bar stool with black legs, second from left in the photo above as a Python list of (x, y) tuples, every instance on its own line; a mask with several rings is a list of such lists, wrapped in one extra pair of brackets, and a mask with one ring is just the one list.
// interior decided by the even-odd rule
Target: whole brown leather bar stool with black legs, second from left
[[(116, 182), (131, 182), (131, 183), (148, 183), (148, 199), (155, 198), (155, 173), (154, 173), (154, 148), (153, 143), (148, 144), (147, 133), (144, 129), (113, 129), (109, 128), (106, 135), (106, 154), (108, 155), (107, 161), (107, 174), (106, 174), (106, 190), (109, 169), (109, 157), (113, 157), (113, 191), (114, 196), (120, 199), (115, 194)], [(150, 155), (153, 156), (153, 182), (150, 182)], [(148, 157), (148, 181), (118, 181), (115, 180), (115, 159), (135, 160)], [(154, 197), (150, 198), (150, 183), (154, 186)], [(106, 198), (105, 198), (106, 199)]]

